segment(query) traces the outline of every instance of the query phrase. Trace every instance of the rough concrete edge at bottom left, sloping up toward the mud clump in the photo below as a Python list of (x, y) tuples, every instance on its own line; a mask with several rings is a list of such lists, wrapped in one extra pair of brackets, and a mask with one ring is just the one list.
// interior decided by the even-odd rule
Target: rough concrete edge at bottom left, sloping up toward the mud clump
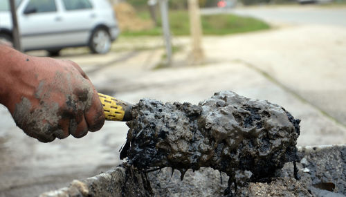
[(152, 196), (145, 173), (129, 166), (119, 166), (85, 180), (73, 180), (69, 187), (48, 191), (40, 197), (73, 196)]

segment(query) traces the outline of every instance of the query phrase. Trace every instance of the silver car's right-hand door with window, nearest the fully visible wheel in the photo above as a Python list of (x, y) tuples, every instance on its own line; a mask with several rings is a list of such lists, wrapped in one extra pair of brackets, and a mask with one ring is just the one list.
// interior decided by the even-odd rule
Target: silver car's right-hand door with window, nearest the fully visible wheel
[[(89, 0), (62, 0), (64, 16), (62, 23), (71, 32), (65, 39), (71, 44), (88, 44), (95, 26), (95, 9)], [(66, 20), (65, 20), (66, 19)]]

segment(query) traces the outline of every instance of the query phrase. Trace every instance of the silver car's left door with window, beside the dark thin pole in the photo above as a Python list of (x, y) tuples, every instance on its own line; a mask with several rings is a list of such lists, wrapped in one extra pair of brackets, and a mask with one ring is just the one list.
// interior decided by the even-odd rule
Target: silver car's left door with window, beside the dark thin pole
[(55, 0), (28, 0), (19, 10), (19, 28), (24, 50), (64, 46), (60, 35), (61, 12)]

